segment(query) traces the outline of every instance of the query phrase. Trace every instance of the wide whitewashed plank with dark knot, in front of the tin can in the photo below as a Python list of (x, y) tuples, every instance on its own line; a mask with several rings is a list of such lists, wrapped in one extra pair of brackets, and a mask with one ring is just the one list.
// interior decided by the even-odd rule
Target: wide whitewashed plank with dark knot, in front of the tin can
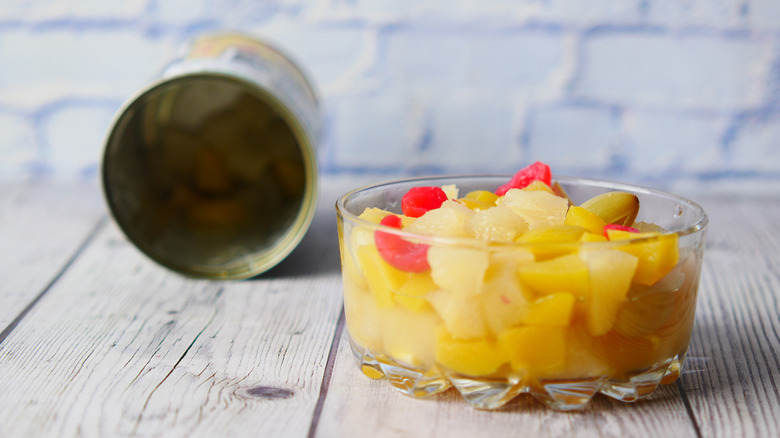
[(0, 436), (306, 436), (341, 310), (334, 201), (244, 282), (166, 271), (110, 223), (0, 344)]

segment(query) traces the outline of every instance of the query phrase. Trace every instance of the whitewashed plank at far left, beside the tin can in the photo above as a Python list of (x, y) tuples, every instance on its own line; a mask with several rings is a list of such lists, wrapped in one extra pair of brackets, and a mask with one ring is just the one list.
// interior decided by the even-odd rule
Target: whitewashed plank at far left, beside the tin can
[(0, 184), (0, 331), (56, 277), (105, 214), (94, 182)]

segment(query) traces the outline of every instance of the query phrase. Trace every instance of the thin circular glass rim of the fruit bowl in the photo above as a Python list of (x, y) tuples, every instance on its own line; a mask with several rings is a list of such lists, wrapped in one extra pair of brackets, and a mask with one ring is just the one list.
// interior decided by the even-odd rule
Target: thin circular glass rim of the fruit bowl
[[(607, 246), (625, 246), (628, 243), (637, 243), (637, 242), (646, 242), (646, 241), (652, 241), (652, 240), (658, 240), (659, 238), (662, 238), (663, 236), (668, 235), (677, 235), (677, 237), (683, 237), (688, 236), (691, 234), (695, 234), (700, 231), (704, 231), (707, 228), (707, 225), (709, 223), (709, 217), (707, 216), (707, 212), (696, 202), (685, 198), (680, 195), (676, 195), (674, 193), (660, 190), (656, 188), (651, 188), (643, 185), (638, 184), (631, 184), (631, 183), (623, 183), (623, 182), (616, 182), (606, 179), (598, 179), (598, 178), (587, 178), (587, 177), (571, 177), (571, 176), (556, 176), (553, 175), (552, 182), (566, 182), (566, 183), (579, 183), (584, 184), (592, 187), (601, 187), (611, 190), (623, 190), (628, 191), (636, 194), (644, 194), (644, 195), (652, 195), (652, 196), (661, 196), (665, 198), (670, 198), (674, 200), (675, 202), (678, 202), (680, 204), (687, 205), (689, 208), (693, 209), (698, 214), (698, 219), (694, 221), (691, 225), (682, 228), (680, 230), (672, 230), (672, 231), (666, 231), (661, 234), (654, 234), (650, 236), (642, 236), (642, 237), (636, 237), (631, 239), (624, 239), (619, 241), (605, 241), (605, 242), (567, 242), (567, 243), (559, 243), (559, 242), (553, 242), (553, 243), (526, 243), (526, 242), (491, 242), (476, 238), (468, 238), (468, 237), (442, 237), (442, 236), (430, 236), (430, 235), (424, 235), (424, 234), (418, 234), (413, 233), (405, 230), (401, 230), (398, 228), (389, 227), (386, 225), (377, 224), (365, 219), (361, 219), (358, 217), (358, 215), (351, 213), (346, 208), (346, 202), (349, 198), (354, 197), (355, 195), (369, 191), (369, 190), (378, 190), (383, 187), (389, 188), (390, 186), (395, 185), (401, 185), (401, 184), (413, 184), (414, 182), (422, 182), (422, 181), (428, 181), (428, 182), (436, 182), (436, 181), (448, 181), (449, 183), (453, 183), (454, 180), (458, 179), (469, 179), (469, 180), (477, 180), (477, 179), (496, 179), (497, 182), (506, 182), (509, 181), (510, 178), (512, 178), (511, 174), (489, 174), (489, 173), (475, 173), (475, 174), (446, 174), (446, 175), (428, 175), (428, 176), (416, 176), (416, 177), (410, 177), (410, 178), (397, 178), (392, 180), (386, 180), (381, 181), (378, 183), (372, 183), (368, 185), (364, 185), (362, 187), (355, 188), (353, 190), (350, 190), (347, 193), (344, 193), (343, 195), (339, 196), (339, 198), (336, 200), (335, 208), (336, 208), (336, 214), (341, 220), (349, 220), (350, 222), (353, 222), (355, 224), (358, 224), (362, 228), (368, 228), (373, 231), (384, 231), (391, 234), (398, 235), (400, 237), (406, 238), (411, 241), (415, 242), (421, 242), (421, 243), (438, 243), (438, 244), (451, 244), (451, 245), (468, 245), (468, 246), (477, 246), (480, 248), (529, 248), (529, 247), (542, 247), (542, 246), (570, 246), (572, 244), (578, 245), (578, 246), (599, 246), (599, 247), (607, 247)], [(428, 184), (428, 185), (437, 185), (437, 184)], [(442, 184), (438, 184), (438, 186), (441, 186)], [(394, 213), (398, 214), (398, 213)]]

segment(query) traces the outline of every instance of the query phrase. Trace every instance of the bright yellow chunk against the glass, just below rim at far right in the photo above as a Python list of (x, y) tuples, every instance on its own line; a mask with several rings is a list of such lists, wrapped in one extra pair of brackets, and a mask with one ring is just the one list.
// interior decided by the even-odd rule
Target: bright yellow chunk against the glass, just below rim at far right
[(635, 255), (639, 259), (634, 281), (651, 285), (664, 278), (674, 268), (680, 254), (677, 247), (677, 234), (631, 233), (622, 230), (608, 230), (609, 240), (643, 239), (631, 242), (620, 249)]

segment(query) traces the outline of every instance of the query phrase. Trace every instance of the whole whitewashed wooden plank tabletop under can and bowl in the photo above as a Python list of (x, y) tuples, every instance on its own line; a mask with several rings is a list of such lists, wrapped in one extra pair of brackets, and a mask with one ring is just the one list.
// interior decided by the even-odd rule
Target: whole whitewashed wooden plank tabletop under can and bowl
[(780, 198), (696, 198), (710, 229), (678, 382), (575, 413), (498, 411), (364, 377), (345, 340), (338, 195), (265, 275), (183, 278), (119, 232), (96, 183), (0, 185), (0, 436), (780, 435)]

